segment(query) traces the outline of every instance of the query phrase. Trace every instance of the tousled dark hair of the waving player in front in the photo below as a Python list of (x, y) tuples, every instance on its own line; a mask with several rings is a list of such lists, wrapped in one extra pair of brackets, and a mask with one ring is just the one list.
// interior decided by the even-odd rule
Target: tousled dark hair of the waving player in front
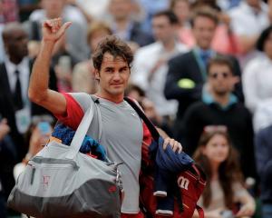
[(92, 54), (92, 62), (94, 68), (99, 71), (101, 70), (102, 60), (105, 53), (112, 54), (114, 58), (120, 56), (131, 68), (131, 62), (133, 60), (131, 48), (117, 36), (106, 36), (94, 50), (94, 53)]

